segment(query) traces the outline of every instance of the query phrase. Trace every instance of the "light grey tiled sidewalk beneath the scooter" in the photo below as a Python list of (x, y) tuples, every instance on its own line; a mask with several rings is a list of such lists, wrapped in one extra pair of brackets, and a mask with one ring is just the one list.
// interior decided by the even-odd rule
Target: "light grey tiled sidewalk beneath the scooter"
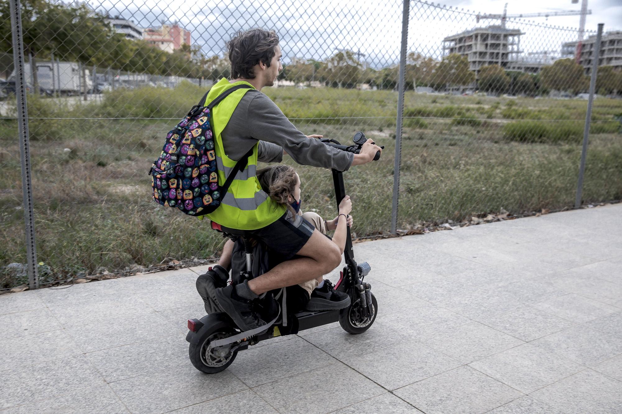
[[(622, 205), (355, 245), (379, 313), (188, 359), (204, 268), (0, 296), (0, 413), (622, 413)], [(417, 410), (418, 409), (418, 410)]]

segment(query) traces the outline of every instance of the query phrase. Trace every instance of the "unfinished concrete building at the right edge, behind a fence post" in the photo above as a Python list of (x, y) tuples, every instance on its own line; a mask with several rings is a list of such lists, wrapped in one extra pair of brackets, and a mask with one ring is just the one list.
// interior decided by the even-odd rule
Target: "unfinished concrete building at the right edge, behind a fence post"
[[(566, 42), (562, 45), (562, 57), (574, 58), (577, 50), (577, 41)], [(578, 63), (585, 68), (586, 75), (592, 71), (596, 35), (583, 40)], [(607, 32), (600, 41), (600, 58), (598, 66), (611, 66), (614, 70), (622, 70), (622, 31)]]

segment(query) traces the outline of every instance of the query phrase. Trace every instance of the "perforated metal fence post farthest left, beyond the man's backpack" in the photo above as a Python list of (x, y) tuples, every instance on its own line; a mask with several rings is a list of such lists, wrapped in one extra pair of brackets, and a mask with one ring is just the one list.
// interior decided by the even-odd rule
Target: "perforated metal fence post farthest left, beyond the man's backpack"
[(28, 285), (39, 284), (37, 273), (37, 244), (32, 201), (32, 178), (30, 177), (30, 147), (28, 136), (28, 108), (26, 106), (26, 80), (24, 79), (24, 39), (19, 0), (9, 0), (11, 7), (11, 28), (13, 35), (13, 62), (15, 65), (15, 86), (17, 98), (17, 129), (19, 134), (19, 155), (22, 161), (22, 196), (24, 199), (24, 224), (26, 226), (26, 255), (28, 260)]

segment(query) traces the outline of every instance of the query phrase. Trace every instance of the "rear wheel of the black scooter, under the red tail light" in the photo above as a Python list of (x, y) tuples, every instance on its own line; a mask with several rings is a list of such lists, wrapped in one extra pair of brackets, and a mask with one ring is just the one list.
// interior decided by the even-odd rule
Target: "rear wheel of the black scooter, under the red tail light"
[(228, 327), (216, 328), (203, 335), (198, 344), (190, 344), (188, 354), (192, 365), (207, 374), (221, 372), (231, 365), (238, 351), (231, 351), (236, 344), (213, 347), (211, 343), (216, 339), (228, 338), (234, 334), (233, 329)]

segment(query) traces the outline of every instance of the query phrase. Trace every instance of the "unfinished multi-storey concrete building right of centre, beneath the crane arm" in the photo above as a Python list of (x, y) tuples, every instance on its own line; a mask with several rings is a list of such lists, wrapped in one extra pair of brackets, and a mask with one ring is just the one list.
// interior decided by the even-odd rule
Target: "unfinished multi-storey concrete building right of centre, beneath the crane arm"
[(499, 65), (507, 68), (518, 61), (521, 53), (521, 35), (519, 29), (506, 29), (501, 25), (476, 27), (443, 39), (443, 55), (452, 53), (465, 55), (470, 70), (478, 78), (480, 68), (486, 65)]

